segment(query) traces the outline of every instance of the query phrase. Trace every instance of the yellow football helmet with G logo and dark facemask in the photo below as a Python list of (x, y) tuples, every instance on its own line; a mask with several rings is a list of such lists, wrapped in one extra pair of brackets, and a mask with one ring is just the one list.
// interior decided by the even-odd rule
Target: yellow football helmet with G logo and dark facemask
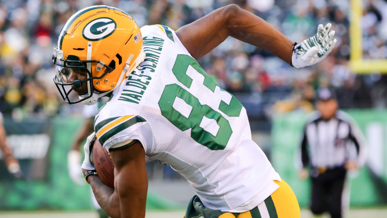
[[(140, 28), (126, 12), (97, 5), (79, 10), (68, 19), (54, 48), (54, 82), (69, 104), (96, 103), (115, 90), (144, 61)], [(68, 82), (72, 71), (87, 72), (87, 79)], [(87, 83), (88, 93), (74, 97), (74, 87)]]

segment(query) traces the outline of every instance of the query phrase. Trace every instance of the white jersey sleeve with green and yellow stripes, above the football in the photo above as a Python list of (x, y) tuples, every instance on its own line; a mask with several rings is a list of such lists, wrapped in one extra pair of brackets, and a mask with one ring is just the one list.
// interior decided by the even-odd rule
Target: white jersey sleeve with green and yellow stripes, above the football
[[(112, 109), (112, 110), (109, 110)], [(109, 110), (109, 111), (108, 111)], [(110, 116), (112, 107), (104, 107), (96, 116), (94, 131), (98, 141), (107, 151), (122, 149), (133, 144), (134, 140), (149, 151), (152, 146), (153, 136), (149, 123), (132, 111), (125, 111), (128, 115)]]

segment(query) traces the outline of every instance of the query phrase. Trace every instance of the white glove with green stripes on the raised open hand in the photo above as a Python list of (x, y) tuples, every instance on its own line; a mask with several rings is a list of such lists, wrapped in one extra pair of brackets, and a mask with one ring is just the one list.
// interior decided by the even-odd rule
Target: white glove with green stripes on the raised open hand
[(320, 24), (316, 35), (296, 46), (291, 58), (294, 67), (301, 68), (317, 64), (327, 57), (337, 42), (336, 39), (332, 40), (335, 31), (330, 31), (331, 27), (330, 23), (325, 27)]

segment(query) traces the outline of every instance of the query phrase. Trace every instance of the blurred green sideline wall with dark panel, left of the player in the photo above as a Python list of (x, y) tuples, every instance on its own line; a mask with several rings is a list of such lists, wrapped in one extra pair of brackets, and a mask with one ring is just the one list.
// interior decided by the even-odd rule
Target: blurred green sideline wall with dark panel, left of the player
[[(89, 185), (77, 185), (68, 176), (67, 152), (82, 118), (13, 122), (5, 119), (8, 144), (14, 150), (25, 179), (15, 180), (0, 158), (0, 210), (91, 209)], [(147, 209), (175, 209), (148, 191)]]

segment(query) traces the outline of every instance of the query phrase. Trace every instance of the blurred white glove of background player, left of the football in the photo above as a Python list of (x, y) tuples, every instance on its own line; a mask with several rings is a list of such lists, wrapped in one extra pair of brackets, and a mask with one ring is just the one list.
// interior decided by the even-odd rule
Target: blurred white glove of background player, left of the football
[(68, 175), (73, 182), (83, 185), (85, 180), (83, 179), (82, 170), (80, 169), (80, 159), (81, 156), (79, 151), (70, 150), (67, 154)]

